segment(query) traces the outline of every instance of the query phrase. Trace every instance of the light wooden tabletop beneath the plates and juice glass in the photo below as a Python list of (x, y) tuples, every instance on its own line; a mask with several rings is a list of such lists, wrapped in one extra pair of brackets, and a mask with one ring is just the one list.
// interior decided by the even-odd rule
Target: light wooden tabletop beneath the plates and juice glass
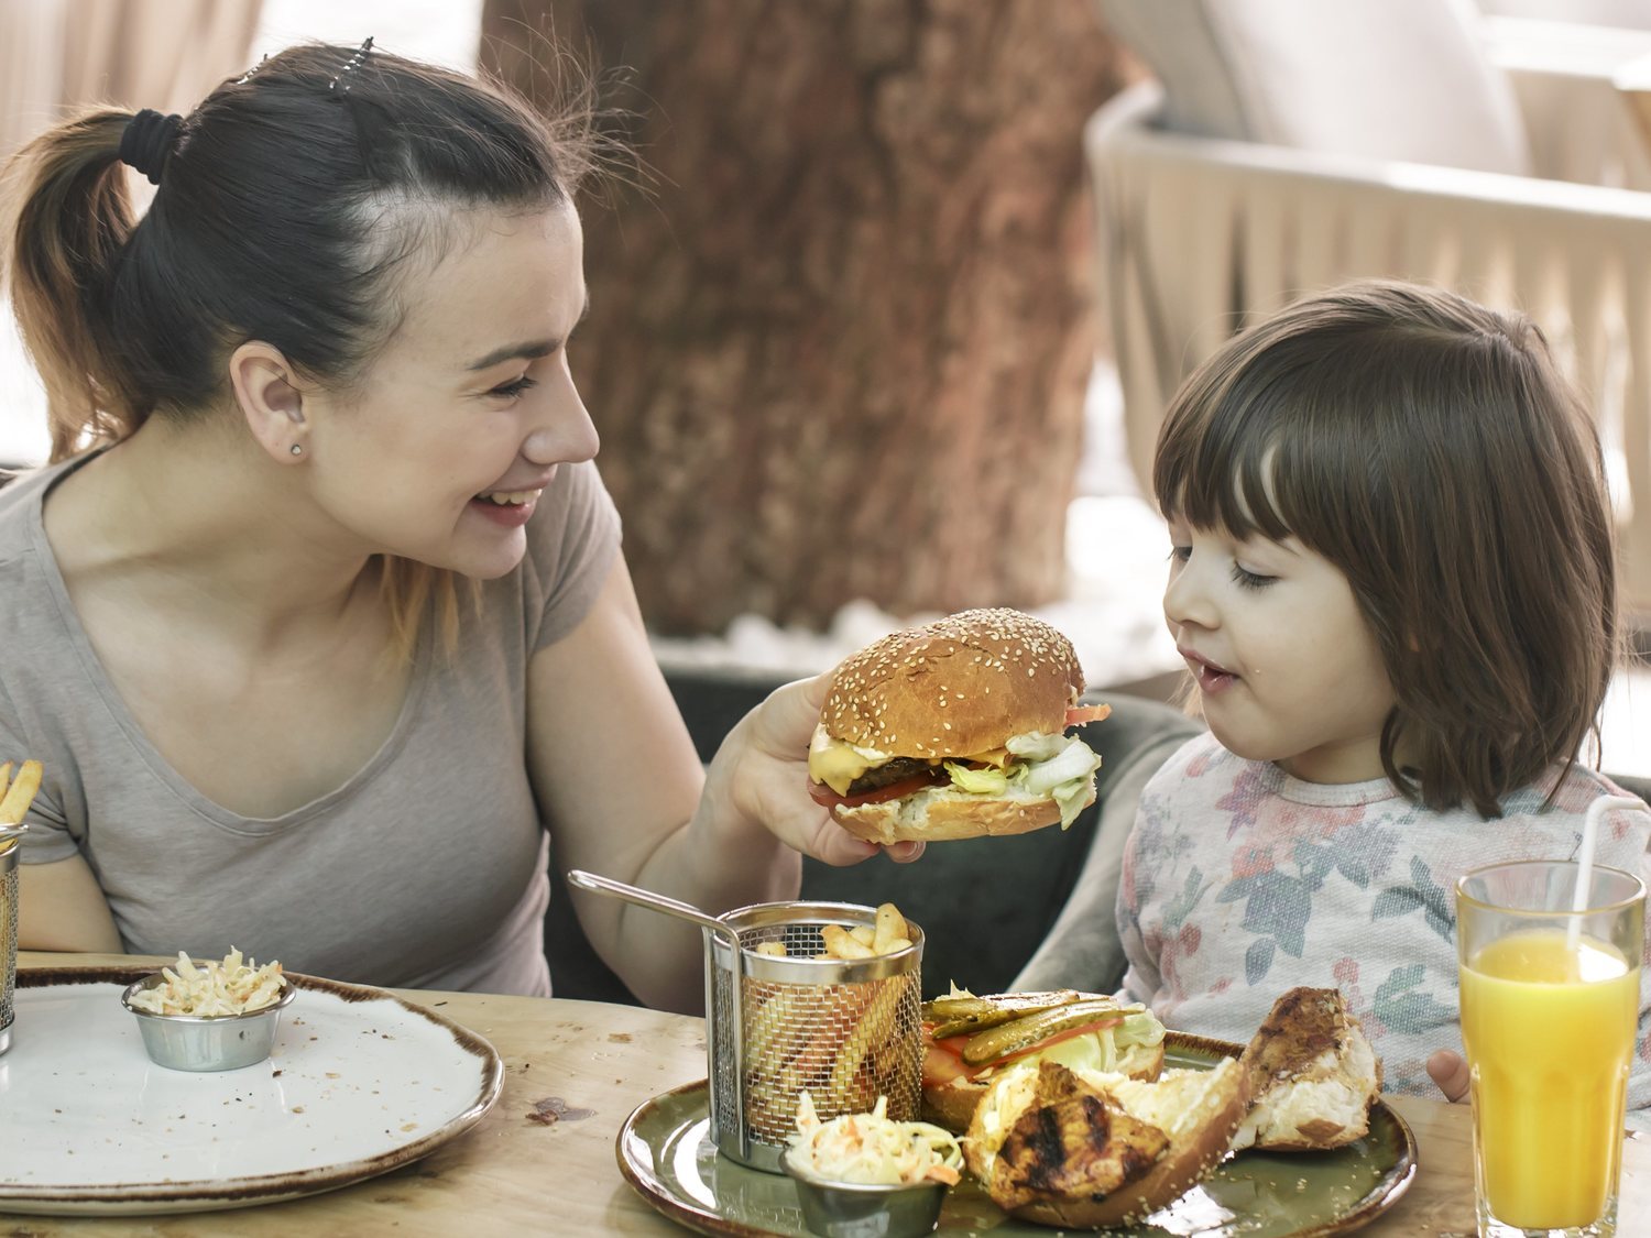
[[(18, 959), (20, 967), (122, 962), (134, 959), (28, 952)], [(637, 1104), (705, 1076), (703, 1020), (560, 999), (400, 995), (487, 1037), (505, 1061), (504, 1094), (492, 1113), (424, 1160), (343, 1190), (238, 1212), (111, 1220), (0, 1215), (0, 1235), (682, 1233), (619, 1175), (614, 1137)], [(558, 1099), (591, 1116), (550, 1126), (530, 1118), (537, 1104)], [(1405, 1198), (1364, 1233), (1471, 1235), (1468, 1108), (1410, 1096), (1390, 1096), (1388, 1104), (1415, 1131), (1422, 1170)], [(1651, 1215), (1651, 1141), (1630, 1139), (1623, 1160), (1621, 1215)]]

